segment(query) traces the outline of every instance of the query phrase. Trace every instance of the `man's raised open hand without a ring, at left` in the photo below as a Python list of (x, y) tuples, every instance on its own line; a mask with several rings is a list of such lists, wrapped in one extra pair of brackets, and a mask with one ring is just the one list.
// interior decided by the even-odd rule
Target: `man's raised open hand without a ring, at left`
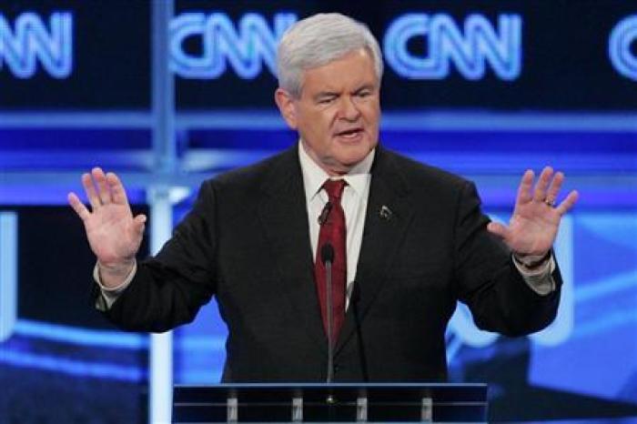
[(82, 185), (91, 210), (75, 193), (68, 194), (68, 203), (84, 222), (102, 285), (116, 288), (133, 269), (147, 217), (143, 214), (133, 217), (124, 186), (112, 172), (105, 174), (95, 167), (82, 176)]

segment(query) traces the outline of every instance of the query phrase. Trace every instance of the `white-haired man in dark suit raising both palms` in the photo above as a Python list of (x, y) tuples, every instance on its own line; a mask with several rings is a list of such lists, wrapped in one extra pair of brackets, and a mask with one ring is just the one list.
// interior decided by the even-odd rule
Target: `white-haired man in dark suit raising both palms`
[(509, 227), (491, 223), (470, 182), (379, 146), (381, 76), (364, 25), (294, 25), (275, 100), (298, 146), (206, 181), (141, 263), (146, 217), (131, 215), (116, 175), (85, 174), (92, 211), (69, 202), (97, 257), (97, 307), (122, 328), (164, 331), (217, 296), (228, 382), (444, 380), (458, 299), (480, 328), (547, 326), (561, 286), (551, 245), (577, 193), (554, 207), (563, 175), (547, 167), (533, 187), (527, 171)]

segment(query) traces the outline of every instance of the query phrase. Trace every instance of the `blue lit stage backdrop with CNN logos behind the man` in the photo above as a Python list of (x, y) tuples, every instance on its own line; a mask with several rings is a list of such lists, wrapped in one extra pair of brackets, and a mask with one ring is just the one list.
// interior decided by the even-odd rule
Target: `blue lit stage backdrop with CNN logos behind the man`
[[(581, 192), (556, 244), (555, 323), (502, 338), (459, 306), (451, 379), (489, 383), (491, 419), (636, 418), (629, 3), (3, 2), (0, 422), (147, 421), (149, 337), (93, 308), (95, 259), (66, 193), (90, 167), (114, 170), (136, 210), (168, 218), (166, 232), (204, 178), (295, 143), (272, 102), (274, 46), (319, 11), (354, 15), (379, 38), (385, 146), (474, 180), (494, 219), (510, 216), (527, 167), (561, 169), (565, 191)], [(160, 230), (149, 228), (141, 256)], [(213, 299), (174, 333), (173, 381), (217, 383), (225, 337)]]

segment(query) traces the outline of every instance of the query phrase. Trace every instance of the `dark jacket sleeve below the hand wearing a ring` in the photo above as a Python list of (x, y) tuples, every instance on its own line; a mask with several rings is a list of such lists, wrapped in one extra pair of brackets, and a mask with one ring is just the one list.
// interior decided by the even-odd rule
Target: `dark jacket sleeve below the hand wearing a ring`
[(506, 336), (521, 336), (551, 324), (560, 301), (557, 263), (552, 273), (556, 289), (546, 296), (537, 294), (513, 264), (509, 248), (487, 230), (490, 219), (481, 212), (472, 183), (466, 182), (460, 190), (456, 210), (456, 289), (476, 325)]

